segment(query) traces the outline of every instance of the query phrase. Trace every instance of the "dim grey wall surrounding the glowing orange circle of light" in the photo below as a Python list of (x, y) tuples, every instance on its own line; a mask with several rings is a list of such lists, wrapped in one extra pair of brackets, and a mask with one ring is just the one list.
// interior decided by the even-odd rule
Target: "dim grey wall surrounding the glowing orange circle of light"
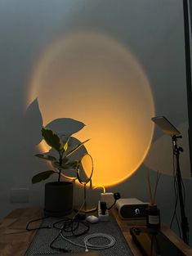
[[(43, 203), (43, 184), (31, 185), (30, 182), (37, 169), (46, 168), (42, 162), (40, 163), (33, 157), (38, 152), (35, 145), (39, 141), (39, 136), (33, 136), (33, 131), (41, 119), (38, 112), (25, 115), (25, 102), (33, 70), (42, 53), (58, 38), (69, 32), (80, 30), (106, 34), (131, 49), (150, 81), (155, 115), (165, 115), (177, 128), (182, 128), (184, 141), (181, 141), (181, 144), (187, 146), (185, 142), (187, 141), (187, 107), (181, 1), (1, 0), (1, 218), (11, 209)], [(127, 119), (127, 127), (128, 122)], [(145, 134), (143, 136), (145, 137)], [(155, 129), (154, 142), (162, 137), (163, 133)], [(161, 142), (154, 148), (157, 150), (157, 155), (169, 154), (170, 148), (165, 146), (162, 148)], [(154, 169), (159, 166), (158, 162), (151, 164), (151, 154), (153, 152), (150, 151), (145, 164), (141, 164), (131, 178), (121, 182), (118, 186), (109, 187), (108, 190), (120, 191), (123, 197), (148, 200), (145, 171), (147, 168)], [(190, 173), (187, 150), (182, 158), (181, 170), (186, 177)], [(166, 169), (167, 163), (164, 162), (161, 168)], [(168, 166), (168, 168), (171, 167)], [(155, 175), (152, 170), (151, 175)], [(10, 202), (12, 188), (29, 189), (29, 203), (12, 204)], [(186, 213), (190, 227), (192, 227), (191, 191), (191, 181), (189, 178), (185, 179)], [(98, 200), (95, 191), (93, 197)], [(162, 221), (168, 224), (172, 218), (174, 205), (171, 175), (163, 174), (161, 178), (158, 204), (162, 213)]]

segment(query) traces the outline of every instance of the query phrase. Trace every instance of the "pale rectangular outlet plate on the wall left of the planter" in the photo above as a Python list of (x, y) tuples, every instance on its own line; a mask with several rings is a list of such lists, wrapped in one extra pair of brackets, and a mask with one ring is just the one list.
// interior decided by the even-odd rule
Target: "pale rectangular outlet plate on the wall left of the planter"
[(29, 188), (11, 188), (10, 203), (29, 203)]

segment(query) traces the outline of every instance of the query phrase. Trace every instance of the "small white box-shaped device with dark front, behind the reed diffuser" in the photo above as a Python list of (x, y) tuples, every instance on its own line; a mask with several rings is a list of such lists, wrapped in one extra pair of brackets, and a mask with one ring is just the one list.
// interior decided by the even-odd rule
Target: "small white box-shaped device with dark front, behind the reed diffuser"
[(145, 209), (148, 203), (144, 203), (136, 198), (122, 198), (116, 202), (118, 215), (123, 219), (145, 218)]

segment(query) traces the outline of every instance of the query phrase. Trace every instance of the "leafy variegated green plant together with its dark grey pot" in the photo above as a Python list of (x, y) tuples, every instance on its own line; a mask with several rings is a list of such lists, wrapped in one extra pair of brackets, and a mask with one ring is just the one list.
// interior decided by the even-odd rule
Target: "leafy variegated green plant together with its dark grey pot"
[(38, 173), (32, 178), (32, 183), (41, 182), (51, 177), (53, 174), (58, 175), (57, 182), (48, 182), (45, 184), (45, 208), (44, 213), (47, 216), (63, 216), (71, 213), (73, 209), (73, 182), (61, 181), (63, 170), (74, 169), (78, 167), (78, 159), (70, 159), (86, 141), (79, 143), (74, 148), (69, 149), (69, 140), (71, 134), (59, 135), (50, 128), (42, 127), (42, 137), (47, 142), (51, 149), (57, 152), (58, 157), (54, 155), (37, 154), (35, 156), (50, 161), (53, 169)]

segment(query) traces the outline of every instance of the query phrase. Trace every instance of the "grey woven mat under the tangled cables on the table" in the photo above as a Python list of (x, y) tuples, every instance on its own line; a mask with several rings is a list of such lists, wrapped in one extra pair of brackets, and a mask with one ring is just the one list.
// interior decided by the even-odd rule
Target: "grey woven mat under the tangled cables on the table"
[[(52, 225), (53, 223), (58, 222), (58, 220), (60, 219), (44, 219), (41, 227)], [(60, 224), (58, 225), (57, 227), (63, 226), (62, 222), (60, 222)], [(84, 227), (79, 228), (82, 228), (83, 230)], [(29, 249), (27, 250), (25, 256), (34, 256), (35, 254), (42, 254), (43, 256), (43, 254), (54, 253), (59, 255), (60, 252), (58, 250), (50, 248), (51, 241), (54, 240), (59, 233), (60, 231), (54, 227), (50, 229), (39, 229), (36, 235), (34, 236), (33, 241), (29, 246)], [(83, 238), (93, 233), (105, 233), (110, 236), (114, 236), (114, 239), (116, 240), (116, 243), (113, 247), (109, 249), (100, 249), (100, 256), (133, 256), (131, 249), (127, 245), (127, 241), (124, 239), (122, 232), (119, 230), (117, 222), (115, 222), (114, 219), (111, 217), (109, 217), (108, 222), (97, 222), (96, 224), (90, 224), (90, 229), (86, 234), (78, 237), (69, 237), (69, 240), (72, 240), (75, 243), (83, 245)], [(107, 243), (106, 239), (104, 238), (94, 238), (90, 240), (90, 242), (92, 242), (92, 244), (95, 243), (99, 245)], [(59, 236), (58, 239), (56, 239), (56, 241), (54, 242), (54, 246), (56, 246), (57, 248), (59, 247), (69, 249), (71, 250), (71, 252), (84, 251), (83, 247), (73, 245), (68, 241), (64, 240), (61, 236)]]

